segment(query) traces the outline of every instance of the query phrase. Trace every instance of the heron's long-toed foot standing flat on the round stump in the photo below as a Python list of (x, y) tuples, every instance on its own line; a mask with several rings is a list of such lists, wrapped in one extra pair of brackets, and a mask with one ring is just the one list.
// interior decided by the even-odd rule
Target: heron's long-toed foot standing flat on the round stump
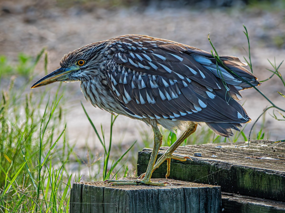
[(168, 181), (152, 182), (145, 179), (136, 180), (105, 180), (103, 183), (108, 185), (148, 185), (148, 186), (166, 186), (166, 184), (171, 185)]

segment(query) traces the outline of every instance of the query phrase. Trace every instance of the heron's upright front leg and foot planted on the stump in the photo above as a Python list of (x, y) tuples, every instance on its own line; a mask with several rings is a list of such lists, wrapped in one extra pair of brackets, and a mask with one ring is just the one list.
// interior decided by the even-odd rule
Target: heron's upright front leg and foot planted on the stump
[(152, 130), (154, 132), (154, 146), (152, 149), (152, 153), (150, 156), (150, 160), (148, 163), (148, 167), (146, 169), (146, 173), (142, 179), (137, 179), (137, 180), (105, 180), (103, 183), (109, 183), (109, 185), (152, 185), (152, 186), (165, 186), (166, 184), (171, 185), (167, 181), (162, 181), (162, 182), (152, 182), (150, 181), (154, 163), (157, 157), (158, 150), (162, 144), (162, 134), (160, 133), (156, 122), (151, 124)]

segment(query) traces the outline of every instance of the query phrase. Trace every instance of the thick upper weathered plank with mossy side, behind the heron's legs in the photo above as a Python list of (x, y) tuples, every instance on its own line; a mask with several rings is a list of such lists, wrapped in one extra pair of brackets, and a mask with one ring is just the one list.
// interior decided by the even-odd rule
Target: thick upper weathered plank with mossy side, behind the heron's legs
[[(178, 147), (174, 154), (191, 156), (180, 162), (171, 159), (169, 178), (196, 183), (220, 185), (222, 191), (285, 201), (285, 144), (252, 141), (249, 147), (240, 143), (221, 143)], [(159, 156), (168, 147), (161, 147)], [(138, 175), (146, 171), (151, 149), (139, 152)], [(193, 156), (200, 152), (203, 156)], [(152, 174), (163, 178), (164, 162)]]

